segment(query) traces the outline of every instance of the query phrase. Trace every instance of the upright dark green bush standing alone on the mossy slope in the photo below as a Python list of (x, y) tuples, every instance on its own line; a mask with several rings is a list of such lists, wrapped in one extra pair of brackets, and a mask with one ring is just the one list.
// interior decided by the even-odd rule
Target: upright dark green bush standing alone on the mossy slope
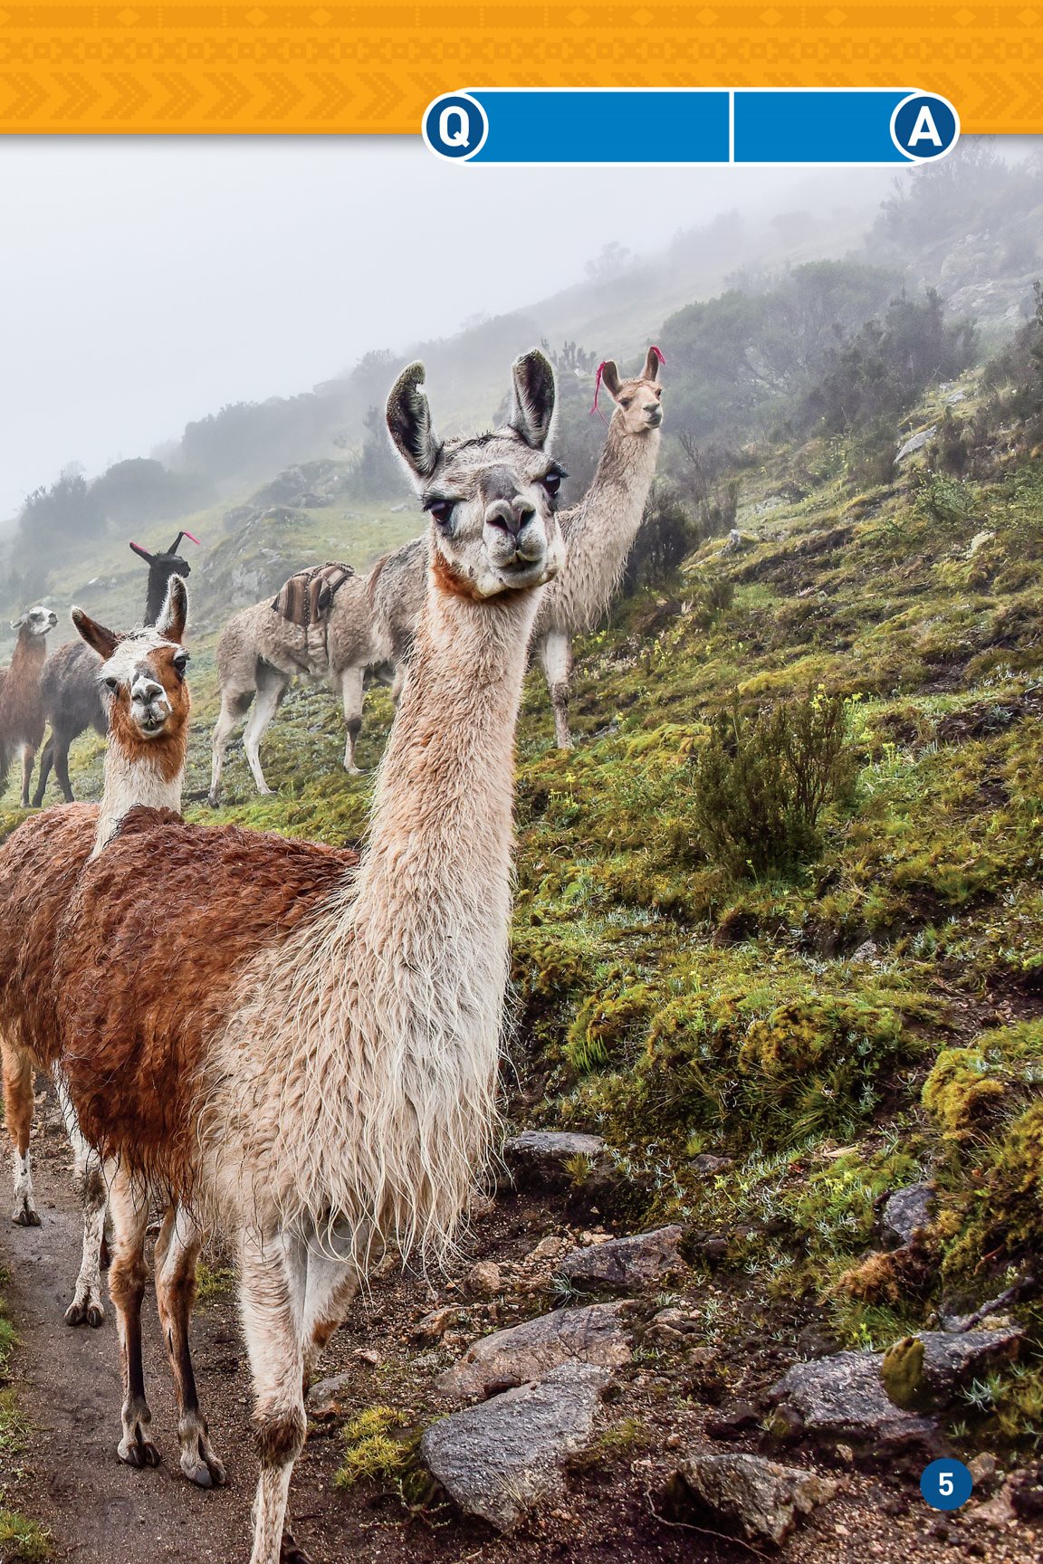
[(696, 763), (693, 809), (707, 857), (735, 876), (791, 873), (821, 852), (819, 818), (854, 785), (846, 702), (823, 691), (722, 713)]

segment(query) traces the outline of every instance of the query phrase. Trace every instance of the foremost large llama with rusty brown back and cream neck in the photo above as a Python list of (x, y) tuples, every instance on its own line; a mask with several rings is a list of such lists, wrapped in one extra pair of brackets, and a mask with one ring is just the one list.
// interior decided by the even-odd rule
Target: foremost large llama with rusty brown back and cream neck
[(31, 1026), (33, 982), (47, 993), (56, 1026), (33, 1026), (33, 1045), (117, 1165), (109, 1292), (133, 1465), (158, 1459), (139, 1339), (150, 1190), (177, 1201), (156, 1284), (199, 1481), (222, 1470), (191, 1373), (191, 1278), (203, 1231), (231, 1243), (260, 1453), (252, 1564), (303, 1558), (286, 1516), (317, 1351), (386, 1242), (452, 1243), (496, 1123), (514, 724), (561, 561), (554, 371), (524, 355), (510, 422), (447, 443), (422, 380), (403, 371), (388, 425), (430, 516), (427, 601), (361, 859), (131, 810), (83, 871), (53, 970), (17, 998)]

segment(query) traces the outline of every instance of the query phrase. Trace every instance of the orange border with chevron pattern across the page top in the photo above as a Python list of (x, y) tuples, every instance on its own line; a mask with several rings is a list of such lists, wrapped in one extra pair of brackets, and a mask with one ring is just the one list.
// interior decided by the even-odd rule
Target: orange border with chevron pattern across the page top
[(3, 5), (0, 131), (416, 135), (461, 86), (910, 86), (1043, 133), (1043, 5)]

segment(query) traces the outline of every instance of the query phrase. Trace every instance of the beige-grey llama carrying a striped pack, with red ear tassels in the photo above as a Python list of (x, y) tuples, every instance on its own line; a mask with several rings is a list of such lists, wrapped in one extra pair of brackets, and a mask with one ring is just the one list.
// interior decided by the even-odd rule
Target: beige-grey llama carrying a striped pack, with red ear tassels
[[(554, 586), (544, 593), (532, 652), (547, 679), (555, 737), (563, 749), (571, 746), (572, 637), (591, 630), (608, 607), (655, 475), (663, 422), (660, 361), (658, 349), (649, 347), (635, 380), (621, 380), (613, 360), (602, 363), (599, 386), (610, 393), (616, 410), (590, 490), (558, 518), (568, 557)], [(339, 690), (347, 727), (344, 768), (358, 773), (355, 746), (363, 726), (366, 682), (383, 679), (397, 699), (403, 662), (424, 605), (425, 572), (427, 540), (413, 538), (378, 560), (369, 576), (347, 582), (333, 604), (327, 633), (313, 633), (311, 641), (280, 619), (267, 602), (242, 608), (228, 621), (217, 647), (220, 716), (214, 727), (210, 787), (214, 807), (228, 738), (255, 693), (244, 749), (258, 791), (271, 793), (260, 746), (299, 674), (328, 677)]]

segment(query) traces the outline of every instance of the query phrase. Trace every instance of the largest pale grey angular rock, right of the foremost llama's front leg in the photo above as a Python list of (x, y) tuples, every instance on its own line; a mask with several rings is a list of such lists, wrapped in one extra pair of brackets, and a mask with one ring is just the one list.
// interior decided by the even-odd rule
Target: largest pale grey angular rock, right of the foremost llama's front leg
[(546, 1379), (439, 1419), (421, 1459), (469, 1516), (511, 1531), (563, 1487), (561, 1462), (590, 1440), (607, 1368), (561, 1364)]

